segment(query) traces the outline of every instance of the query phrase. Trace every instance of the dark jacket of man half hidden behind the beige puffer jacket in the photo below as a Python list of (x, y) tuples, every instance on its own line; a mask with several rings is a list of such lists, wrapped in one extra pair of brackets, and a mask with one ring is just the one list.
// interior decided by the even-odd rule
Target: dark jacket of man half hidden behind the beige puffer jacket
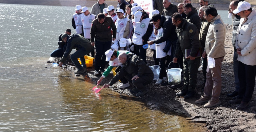
[(201, 42), (202, 49), (205, 47), (205, 38), (207, 36), (208, 28), (211, 22), (207, 22), (207, 20), (202, 22), (202, 26), (199, 32), (199, 40)]

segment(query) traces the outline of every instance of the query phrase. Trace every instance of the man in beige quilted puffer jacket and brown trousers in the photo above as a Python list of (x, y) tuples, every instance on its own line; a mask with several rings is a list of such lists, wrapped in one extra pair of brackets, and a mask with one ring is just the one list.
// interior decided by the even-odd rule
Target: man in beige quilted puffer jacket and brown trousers
[[(205, 39), (205, 49), (202, 57), (208, 56), (208, 72), (206, 73), (206, 83), (204, 95), (196, 103), (206, 103), (203, 107), (213, 107), (220, 104), (219, 96), (221, 92), (221, 62), (225, 56), (225, 35), (226, 26), (216, 8), (207, 6), (203, 8), (203, 17), (211, 22)], [(211, 64), (211, 63), (213, 64)], [(215, 66), (214, 66), (215, 62)]]

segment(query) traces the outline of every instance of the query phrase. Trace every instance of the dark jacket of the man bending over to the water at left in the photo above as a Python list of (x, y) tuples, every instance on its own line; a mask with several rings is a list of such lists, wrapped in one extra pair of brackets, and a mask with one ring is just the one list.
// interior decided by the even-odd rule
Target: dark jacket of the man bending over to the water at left
[(76, 50), (93, 51), (91, 42), (85, 39), (83, 36), (78, 34), (69, 35), (67, 36), (67, 48), (63, 54), (63, 57), (61, 58), (61, 62), (64, 63), (66, 61), (67, 56), (70, 54), (73, 48), (76, 48)]

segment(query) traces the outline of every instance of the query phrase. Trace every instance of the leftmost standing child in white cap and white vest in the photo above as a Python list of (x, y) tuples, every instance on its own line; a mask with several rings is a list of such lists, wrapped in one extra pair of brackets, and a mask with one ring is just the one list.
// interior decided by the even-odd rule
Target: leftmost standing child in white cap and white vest
[(76, 29), (76, 34), (79, 34), (82, 36), (83, 35), (83, 25), (81, 22), (81, 17), (83, 15), (83, 13), (81, 13), (82, 6), (76, 5), (75, 11), (76, 13), (73, 14), (73, 18), (72, 18), (72, 26), (74, 29)]

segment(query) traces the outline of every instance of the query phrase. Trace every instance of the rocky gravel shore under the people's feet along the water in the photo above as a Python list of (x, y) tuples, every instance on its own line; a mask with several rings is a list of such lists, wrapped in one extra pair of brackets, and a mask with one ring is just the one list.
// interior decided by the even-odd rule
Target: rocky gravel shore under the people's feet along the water
[[(164, 107), (170, 111), (176, 112), (180, 115), (186, 115), (190, 122), (194, 123), (204, 123), (204, 127), (211, 132), (255, 132), (256, 131), (256, 93), (254, 92), (253, 98), (250, 101), (250, 106), (245, 110), (236, 110), (237, 105), (229, 104), (229, 100), (233, 100), (232, 97), (227, 97), (227, 93), (231, 93), (235, 89), (234, 84), (234, 73), (233, 73), (233, 46), (231, 44), (231, 26), (227, 26), (227, 32), (225, 37), (225, 58), (222, 62), (222, 91), (220, 95), (221, 104), (213, 108), (203, 108), (204, 103), (196, 104), (195, 101), (203, 95), (203, 89), (200, 89), (201, 84), (203, 83), (203, 74), (202, 71), (197, 74), (197, 88), (195, 96), (191, 99), (185, 100), (183, 97), (177, 97), (176, 92), (179, 92), (181, 87), (170, 88), (169, 84), (155, 85), (155, 81), (146, 87), (150, 91), (145, 94), (143, 97), (140, 97), (141, 100), (151, 102), (150, 107)], [(147, 63), (151, 66), (154, 65), (153, 61), (153, 52), (148, 50), (147, 52)], [(48, 63), (57, 62), (59, 63), (60, 59), (55, 58)], [(63, 70), (76, 70), (70, 59), (62, 67)], [(87, 72), (82, 74), (82, 76), (87, 79), (90, 78), (91, 82), (96, 84), (100, 76), (95, 76), (93, 72), (94, 68), (87, 68)], [(101, 85), (108, 83), (113, 78), (113, 74), (109, 74), (105, 79), (102, 80)], [(113, 91), (116, 91), (120, 94), (125, 94), (128, 96), (134, 96), (129, 92), (132, 88), (131, 86), (127, 89), (117, 88), (117, 84), (109, 87)]]

